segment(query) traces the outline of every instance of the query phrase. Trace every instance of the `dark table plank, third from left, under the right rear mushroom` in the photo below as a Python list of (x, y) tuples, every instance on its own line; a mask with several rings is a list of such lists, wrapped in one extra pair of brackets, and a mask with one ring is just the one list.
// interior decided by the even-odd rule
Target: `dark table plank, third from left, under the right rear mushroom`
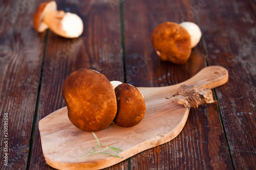
[[(128, 83), (151, 87), (177, 84), (205, 66), (200, 44), (184, 65), (160, 61), (152, 48), (151, 33), (161, 22), (194, 21), (189, 2), (124, 1), (123, 13)], [(212, 104), (192, 109), (185, 127), (174, 140), (133, 156), (131, 169), (231, 168), (226, 155), (218, 109)]]

